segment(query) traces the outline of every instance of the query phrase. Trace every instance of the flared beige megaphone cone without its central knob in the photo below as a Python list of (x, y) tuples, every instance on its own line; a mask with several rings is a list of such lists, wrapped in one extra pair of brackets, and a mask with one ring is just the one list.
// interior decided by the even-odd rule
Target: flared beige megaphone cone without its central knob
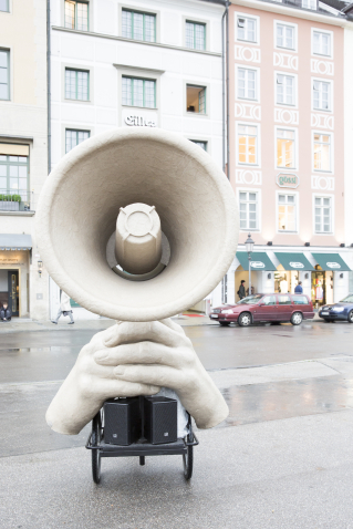
[[(141, 282), (114, 273), (106, 259), (121, 208), (136, 204), (155, 207), (170, 247), (166, 268)], [(62, 158), (43, 186), (35, 228), (48, 272), (77, 303), (115, 320), (153, 321), (219, 283), (239, 220), (227, 177), (200, 147), (164, 129), (122, 127)]]

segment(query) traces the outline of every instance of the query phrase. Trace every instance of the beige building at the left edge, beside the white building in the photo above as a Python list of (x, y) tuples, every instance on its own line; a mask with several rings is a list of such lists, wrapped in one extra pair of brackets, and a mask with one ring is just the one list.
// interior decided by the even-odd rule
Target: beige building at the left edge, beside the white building
[(0, 28), (0, 305), (48, 319), (33, 229), (48, 175), (46, 2), (1, 0)]

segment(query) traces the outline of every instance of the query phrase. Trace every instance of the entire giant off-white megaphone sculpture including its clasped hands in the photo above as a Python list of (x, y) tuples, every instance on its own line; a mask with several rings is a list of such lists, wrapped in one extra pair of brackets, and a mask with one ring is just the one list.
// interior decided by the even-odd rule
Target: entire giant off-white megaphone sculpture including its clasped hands
[(105, 398), (160, 386), (176, 391), (200, 427), (227, 416), (181, 328), (168, 319), (219, 283), (238, 231), (227, 177), (179, 135), (118, 128), (63, 157), (39, 201), (40, 255), (63, 291), (118, 323), (81, 351), (48, 411), (53, 429), (77, 433)]

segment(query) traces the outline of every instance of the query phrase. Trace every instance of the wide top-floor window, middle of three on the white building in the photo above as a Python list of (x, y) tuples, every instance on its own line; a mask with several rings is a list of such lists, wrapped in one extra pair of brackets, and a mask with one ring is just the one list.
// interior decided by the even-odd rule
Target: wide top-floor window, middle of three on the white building
[(156, 15), (123, 9), (122, 32), (126, 39), (156, 42)]

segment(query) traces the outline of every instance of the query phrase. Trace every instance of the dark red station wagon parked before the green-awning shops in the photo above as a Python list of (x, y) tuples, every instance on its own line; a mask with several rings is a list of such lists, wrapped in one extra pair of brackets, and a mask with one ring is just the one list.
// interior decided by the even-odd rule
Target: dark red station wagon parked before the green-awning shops
[(305, 294), (253, 294), (243, 298), (236, 304), (227, 304), (212, 309), (209, 318), (217, 320), (222, 326), (231, 322), (240, 326), (270, 321), (273, 323), (291, 322), (300, 325), (303, 320), (314, 317), (312, 302)]

